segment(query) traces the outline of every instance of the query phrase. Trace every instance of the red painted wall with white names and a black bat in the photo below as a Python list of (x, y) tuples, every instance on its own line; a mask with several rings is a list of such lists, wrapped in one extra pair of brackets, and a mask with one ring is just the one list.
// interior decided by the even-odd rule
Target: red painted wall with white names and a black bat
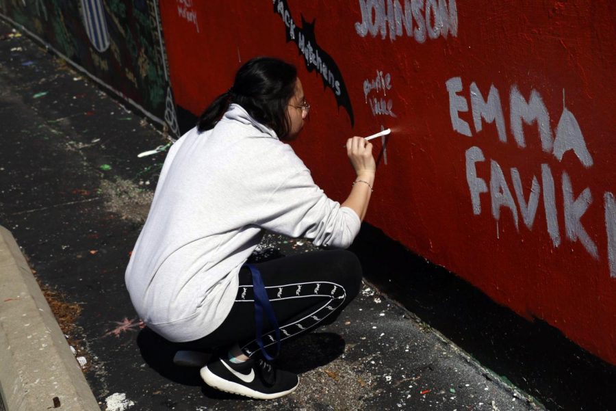
[(205, 4), (160, 3), (179, 105), (198, 115), (255, 55), (296, 64), (293, 146), (331, 197), (346, 138), (391, 127), (368, 222), (616, 364), (615, 3)]

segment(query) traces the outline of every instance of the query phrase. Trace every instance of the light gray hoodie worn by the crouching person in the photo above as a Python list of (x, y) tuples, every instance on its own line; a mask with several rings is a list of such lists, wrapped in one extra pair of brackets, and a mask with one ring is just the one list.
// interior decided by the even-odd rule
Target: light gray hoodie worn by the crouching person
[(200, 339), (229, 314), (238, 271), (264, 230), (346, 248), (359, 226), (288, 144), (233, 104), (214, 129), (192, 129), (170, 148), (127, 289), (152, 330), (170, 341)]

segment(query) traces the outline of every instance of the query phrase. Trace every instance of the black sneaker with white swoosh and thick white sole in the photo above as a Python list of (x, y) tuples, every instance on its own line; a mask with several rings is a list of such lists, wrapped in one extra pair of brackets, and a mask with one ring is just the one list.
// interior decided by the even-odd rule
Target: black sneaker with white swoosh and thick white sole
[(275, 369), (262, 358), (249, 358), (236, 364), (227, 358), (215, 357), (201, 369), (205, 384), (227, 393), (257, 399), (273, 399), (292, 393), (299, 377)]

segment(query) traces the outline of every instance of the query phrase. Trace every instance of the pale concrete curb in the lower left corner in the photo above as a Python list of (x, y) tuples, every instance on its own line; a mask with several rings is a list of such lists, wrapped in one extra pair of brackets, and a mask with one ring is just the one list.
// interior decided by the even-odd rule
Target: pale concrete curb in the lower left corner
[(0, 364), (7, 411), (100, 410), (21, 250), (3, 226)]

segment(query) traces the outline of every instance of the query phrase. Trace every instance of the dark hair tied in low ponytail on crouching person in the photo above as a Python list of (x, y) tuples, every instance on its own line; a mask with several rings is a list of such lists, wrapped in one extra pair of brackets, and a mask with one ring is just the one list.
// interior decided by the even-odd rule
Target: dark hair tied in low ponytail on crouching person
[(295, 66), (273, 57), (248, 60), (237, 73), (233, 87), (216, 97), (203, 111), (199, 133), (213, 129), (231, 103), (241, 105), (252, 118), (284, 139), (290, 131), (287, 104), (295, 93)]

